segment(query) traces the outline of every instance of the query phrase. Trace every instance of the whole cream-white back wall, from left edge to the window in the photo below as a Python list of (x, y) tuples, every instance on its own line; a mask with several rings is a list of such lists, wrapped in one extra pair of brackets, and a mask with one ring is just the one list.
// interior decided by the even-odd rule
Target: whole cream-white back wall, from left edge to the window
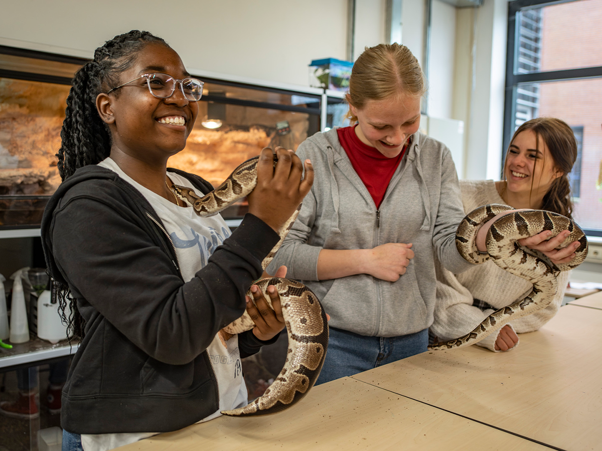
[[(356, 0), (355, 56), (385, 41), (385, 4)], [(306, 87), (312, 59), (346, 58), (347, 6), (348, 0), (3, 0), (0, 44), (92, 57), (114, 35), (147, 29), (198, 75)], [(499, 173), (506, 8), (506, 0), (485, 0), (474, 10), (432, 0), (427, 112), (464, 120), (469, 178)], [(403, 0), (402, 43), (421, 64), (423, 38), (424, 0)]]

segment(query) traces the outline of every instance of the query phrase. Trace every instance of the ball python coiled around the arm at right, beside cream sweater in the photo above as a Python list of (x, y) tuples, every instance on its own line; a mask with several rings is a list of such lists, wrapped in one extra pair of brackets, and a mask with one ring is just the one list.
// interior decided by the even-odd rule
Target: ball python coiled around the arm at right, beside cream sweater
[[(480, 342), (494, 331), (500, 330), (507, 322), (521, 318), (547, 307), (556, 295), (556, 275), (560, 271), (576, 268), (588, 254), (588, 241), (585, 233), (575, 222), (558, 213), (545, 210), (514, 210), (498, 218), (489, 229), (486, 238), (487, 253), (480, 253), (476, 247), (476, 234), (480, 226), (498, 213), (514, 210), (501, 204), (489, 204), (474, 209), (462, 220), (456, 232), (456, 247), (470, 263), (493, 262), (501, 269), (517, 275), (533, 284), (533, 290), (524, 299), (502, 307), (485, 318), (473, 331), (465, 336), (429, 346), (429, 350), (464, 348)], [(580, 245), (576, 256), (568, 263), (554, 265), (539, 251), (518, 244), (521, 238), (551, 230), (552, 236), (563, 230), (571, 232), (562, 242), (564, 247), (573, 241)]]

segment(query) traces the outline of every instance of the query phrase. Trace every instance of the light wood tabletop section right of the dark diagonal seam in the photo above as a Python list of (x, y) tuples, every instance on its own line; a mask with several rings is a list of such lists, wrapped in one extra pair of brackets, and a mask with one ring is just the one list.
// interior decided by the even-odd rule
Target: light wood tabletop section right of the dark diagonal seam
[(427, 351), (353, 378), (563, 450), (602, 443), (602, 310), (561, 307), (510, 352)]

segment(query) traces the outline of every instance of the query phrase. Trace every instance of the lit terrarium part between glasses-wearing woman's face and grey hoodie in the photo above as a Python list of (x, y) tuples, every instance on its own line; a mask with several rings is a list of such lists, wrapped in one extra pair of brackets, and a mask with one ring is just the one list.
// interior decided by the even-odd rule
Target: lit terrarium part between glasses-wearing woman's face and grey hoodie
[[(320, 94), (199, 78), (205, 81), (199, 117), (185, 149), (167, 165), (199, 174), (214, 186), (264, 147), (297, 150), (320, 130)], [(241, 218), (247, 210), (241, 200), (222, 216)]]

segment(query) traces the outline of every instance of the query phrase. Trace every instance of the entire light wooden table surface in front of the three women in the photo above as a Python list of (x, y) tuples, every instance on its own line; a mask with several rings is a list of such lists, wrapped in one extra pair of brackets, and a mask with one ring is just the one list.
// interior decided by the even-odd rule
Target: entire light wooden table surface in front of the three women
[(423, 352), (318, 385), (279, 414), (219, 417), (120, 450), (600, 449), (601, 339), (602, 310), (569, 304), (511, 352)]

